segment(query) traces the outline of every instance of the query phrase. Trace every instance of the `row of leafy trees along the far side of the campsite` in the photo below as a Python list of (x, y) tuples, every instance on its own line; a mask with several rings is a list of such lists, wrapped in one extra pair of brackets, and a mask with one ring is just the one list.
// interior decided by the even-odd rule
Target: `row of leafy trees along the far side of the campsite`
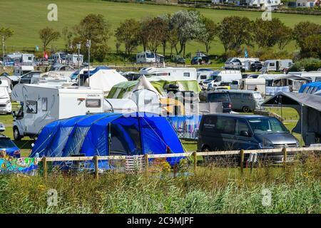
[[(1, 32), (9, 33), (9, 28)], [(100, 14), (88, 14), (79, 24), (61, 32), (53, 28), (43, 28), (39, 36), (44, 50), (52, 41), (62, 37), (66, 51), (76, 51), (76, 43), (81, 43), (81, 53), (87, 53), (86, 41), (91, 40), (91, 58), (103, 61), (109, 51), (108, 41), (112, 35), (111, 24)], [(126, 19), (114, 31), (116, 49), (121, 45), (126, 55), (130, 56), (138, 46), (143, 50), (153, 52), (170, 48), (170, 53), (185, 56), (186, 44), (190, 41), (203, 43), (206, 53), (212, 47), (213, 41), (223, 44), (225, 53), (239, 51), (244, 46), (257, 46), (259, 49), (269, 49), (277, 46), (283, 50), (291, 41), (296, 41), (300, 47), (301, 57), (321, 58), (321, 26), (312, 22), (300, 22), (294, 28), (285, 26), (280, 19), (271, 21), (247, 17), (228, 16), (217, 23), (195, 10), (181, 10), (174, 14), (162, 14), (156, 17), (146, 17), (141, 20)]]

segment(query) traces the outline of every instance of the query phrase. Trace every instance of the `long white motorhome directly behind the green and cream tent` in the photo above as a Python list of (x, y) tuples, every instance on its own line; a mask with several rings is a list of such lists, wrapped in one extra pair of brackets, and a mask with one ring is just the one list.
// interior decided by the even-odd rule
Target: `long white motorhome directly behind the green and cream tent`
[(168, 80), (197, 80), (195, 68), (146, 67), (141, 68), (139, 73), (146, 78), (161, 76), (162, 78), (168, 78)]

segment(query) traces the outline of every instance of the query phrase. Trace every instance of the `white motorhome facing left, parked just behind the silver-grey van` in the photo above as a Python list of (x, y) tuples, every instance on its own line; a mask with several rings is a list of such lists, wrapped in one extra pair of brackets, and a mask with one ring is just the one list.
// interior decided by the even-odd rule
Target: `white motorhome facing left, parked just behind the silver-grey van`
[(241, 80), (242, 73), (240, 71), (215, 71), (204, 83), (208, 84), (208, 88), (221, 86), (221, 83), (232, 83), (235, 80)]

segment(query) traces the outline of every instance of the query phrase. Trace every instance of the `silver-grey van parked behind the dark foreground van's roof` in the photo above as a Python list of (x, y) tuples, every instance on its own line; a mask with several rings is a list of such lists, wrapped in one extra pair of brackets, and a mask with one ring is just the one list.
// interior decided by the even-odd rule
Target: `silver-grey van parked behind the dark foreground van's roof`
[(249, 113), (255, 109), (260, 109), (264, 98), (261, 93), (254, 90), (225, 90), (230, 94), (232, 110)]

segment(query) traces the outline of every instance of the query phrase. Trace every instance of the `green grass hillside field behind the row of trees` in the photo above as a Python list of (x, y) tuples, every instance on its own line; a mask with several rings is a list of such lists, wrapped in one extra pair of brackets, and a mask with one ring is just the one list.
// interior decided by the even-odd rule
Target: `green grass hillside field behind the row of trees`
[[(156, 16), (158, 14), (173, 13), (180, 9), (186, 9), (178, 6), (156, 6), (148, 4), (129, 4), (115, 3), (98, 0), (55, 0), (58, 6), (58, 21), (48, 21), (47, 6), (53, 3), (51, 0), (1, 0), (0, 8), (0, 26), (14, 29), (14, 36), (9, 38), (7, 46), (36, 46), (41, 47), (39, 39), (39, 29), (46, 26), (55, 28), (58, 31), (64, 26), (73, 26), (87, 14), (103, 14), (110, 21), (112, 31), (118, 24), (130, 18), (141, 19), (146, 16)], [(252, 11), (228, 11), (214, 9), (198, 9), (204, 16), (221, 21), (225, 16), (247, 16), (250, 19), (261, 17), (260, 12)], [(287, 26), (294, 26), (300, 21), (313, 21), (321, 24), (321, 16), (300, 15), (300, 14), (277, 14), (272, 13), (272, 17), (280, 18)], [(63, 39), (51, 43), (52, 46), (63, 48)], [(109, 46), (115, 50), (115, 38), (111, 37)], [(203, 46), (196, 42), (190, 42), (187, 46), (188, 52), (203, 50)], [(295, 43), (292, 42), (287, 46), (288, 51), (294, 51)], [(139, 50), (138, 50), (139, 51)], [(216, 41), (213, 44), (212, 54), (223, 53), (223, 46)]]

